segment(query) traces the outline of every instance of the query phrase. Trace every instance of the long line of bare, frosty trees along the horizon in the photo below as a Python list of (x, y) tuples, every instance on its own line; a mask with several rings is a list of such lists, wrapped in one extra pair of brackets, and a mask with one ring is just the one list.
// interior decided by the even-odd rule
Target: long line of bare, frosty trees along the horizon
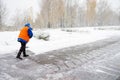
[[(41, 0), (37, 18), (35, 20), (33, 18), (32, 7), (23, 13), (19, 13), (18, 10), (12, 19), (14, 21), (12, 29), (17, 30), (26, 22), (30, 22), (33, 28), (120, 25), (120, 8), (118, 12), (113, 11), (106, 0), (99, 0), (99, 3), (96, 0), (87, 0), (86, 7), (81, 7), (78, 1), (80, 0)], [(5, 12), (0, 2), (0, 25)]]

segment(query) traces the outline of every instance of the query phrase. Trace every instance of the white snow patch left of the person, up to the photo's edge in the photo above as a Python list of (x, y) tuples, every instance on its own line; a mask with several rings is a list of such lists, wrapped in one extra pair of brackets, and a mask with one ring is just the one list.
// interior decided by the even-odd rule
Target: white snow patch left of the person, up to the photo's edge
[(0, 32), (0, 54), (12, 53), (18, 49), (18, 32)]

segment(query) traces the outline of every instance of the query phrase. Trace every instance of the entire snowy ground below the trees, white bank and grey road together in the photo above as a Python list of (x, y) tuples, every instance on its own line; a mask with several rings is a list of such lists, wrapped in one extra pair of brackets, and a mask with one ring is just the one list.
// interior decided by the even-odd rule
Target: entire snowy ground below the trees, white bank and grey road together
[(19, 32), (0, 32), (0, 80), (120, 80), (119, 26), (45, 31), (49, 41), (32, 38), (23, 60)]

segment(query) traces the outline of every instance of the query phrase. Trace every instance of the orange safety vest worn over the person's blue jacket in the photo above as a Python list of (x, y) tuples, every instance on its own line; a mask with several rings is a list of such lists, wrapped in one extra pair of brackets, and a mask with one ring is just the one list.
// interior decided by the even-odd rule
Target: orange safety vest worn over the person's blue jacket
[(29, 41), (29, 36), (28, 36), (28, 27), (27, 26), (25, 26), (24, 28), (22, 28), (21, 29), (21, 31), (20, 31), (20, 34), (19, 34), (19, 38), (21, 38), (21, 39), (23, 39), (23, 40), (25, 40), (25, 41)]

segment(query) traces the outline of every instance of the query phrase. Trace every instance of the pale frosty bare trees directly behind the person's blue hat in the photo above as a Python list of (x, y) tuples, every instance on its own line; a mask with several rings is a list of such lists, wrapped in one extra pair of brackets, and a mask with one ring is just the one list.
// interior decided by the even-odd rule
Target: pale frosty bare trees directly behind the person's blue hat
[(29, 22), (33, 26), (33, 15), (32, 8), (28, 8), (23, 13), (20, 13), (20, 10), (16, 10), (16, 15), (13, 17), (14, 21), (14, 30), (20, 29), (23, 25)]

